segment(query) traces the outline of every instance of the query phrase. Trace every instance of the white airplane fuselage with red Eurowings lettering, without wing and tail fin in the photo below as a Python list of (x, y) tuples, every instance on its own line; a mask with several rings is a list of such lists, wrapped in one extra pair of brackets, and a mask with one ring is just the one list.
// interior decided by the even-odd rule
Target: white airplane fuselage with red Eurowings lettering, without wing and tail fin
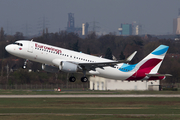
[[(27, 40), (16, 41), (15, 44), (7, 45), (5, 49), (14, 56), (55, 66), (57, 68), (60, 67), (62, 61), (72, 62), (73, 64), (77, 64), (77, 66), (78, 64), (114, 62), (113, 60)], [(161, 62), (158, 62), (157, 64), (161, 64)], [(138, 67), (122, 66), (128, 66), (128, 64), (119, 63), (115, 66), (95, 66), (94, 70), (86, 71), (86, 73), (116, 80), (133, 80), (133, 77), (135, 78), (134, 80), (149, 79), (149, 77), (144, 75), (145, 73), (142, 77), (136, 77)], [(151, 73), (151, 71), (149, 73)]]

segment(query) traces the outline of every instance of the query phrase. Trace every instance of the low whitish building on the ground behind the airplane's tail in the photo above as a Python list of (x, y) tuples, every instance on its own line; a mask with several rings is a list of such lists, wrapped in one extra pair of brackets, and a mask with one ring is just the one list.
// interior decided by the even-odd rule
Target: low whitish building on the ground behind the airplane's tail
[(156, 90), (160, 89), (160, 81), (123, 81), (102, 77), (90, 77), (90, 90)]

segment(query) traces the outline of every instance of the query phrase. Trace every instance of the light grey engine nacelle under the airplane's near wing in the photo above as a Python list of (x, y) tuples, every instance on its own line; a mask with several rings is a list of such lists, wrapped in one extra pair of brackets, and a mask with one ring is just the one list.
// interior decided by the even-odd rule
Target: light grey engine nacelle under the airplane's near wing
[(66, 61), (60, 63), (59, 69), (63, 72), (74, 73), (78, 69), (78, 65)]

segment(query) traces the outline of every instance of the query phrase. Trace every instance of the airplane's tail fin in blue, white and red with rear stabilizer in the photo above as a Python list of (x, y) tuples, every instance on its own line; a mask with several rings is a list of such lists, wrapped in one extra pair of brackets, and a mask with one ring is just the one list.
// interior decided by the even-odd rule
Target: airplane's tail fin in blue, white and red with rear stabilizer
[[(160, 45), (158, 48), (152, 51), (143, 60), (141, 60), (138, 64), (136, 64), (134, 69), (135, 73), (127, 80), (159, 79), (159, 78), (164, 79), (164, 76), (150, 77), (147, 75), (157, 74), (168, 48), (169, 46)], [(147, 78), (145, 78), (146, 76)]]

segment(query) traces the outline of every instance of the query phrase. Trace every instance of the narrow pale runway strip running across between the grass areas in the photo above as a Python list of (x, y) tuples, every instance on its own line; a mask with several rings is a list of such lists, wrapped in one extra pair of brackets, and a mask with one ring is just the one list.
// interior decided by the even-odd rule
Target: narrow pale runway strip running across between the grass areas
[(135, 97), (164, 97), (164, 98), (170, 98), (170, 97), (180, 97), (179, 94), (123, 94), (123, 95), (0, 95), (0, 98), (135, 98)]

